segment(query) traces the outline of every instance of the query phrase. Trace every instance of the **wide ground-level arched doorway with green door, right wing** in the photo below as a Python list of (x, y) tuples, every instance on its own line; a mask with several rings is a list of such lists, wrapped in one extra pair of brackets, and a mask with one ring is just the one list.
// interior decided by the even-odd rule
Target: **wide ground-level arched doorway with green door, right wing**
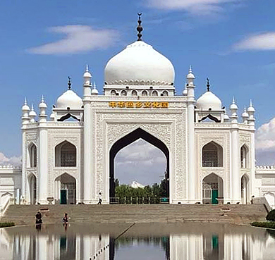
[(224, 180), (211, 173), (202, 180), (202, 203), (218, 204), (218, 197), (224, 197)]

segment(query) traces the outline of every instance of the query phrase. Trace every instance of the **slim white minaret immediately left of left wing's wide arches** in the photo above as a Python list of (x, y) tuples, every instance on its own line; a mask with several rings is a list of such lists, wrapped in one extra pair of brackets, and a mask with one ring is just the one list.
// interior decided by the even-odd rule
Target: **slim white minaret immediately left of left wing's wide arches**
[(38, 199), (40, 204), (47, 204), (48, 191), (48, 130), (47, 130), (47, 104), (44, 97), (39, 104), (39, 144), (38, 144)]

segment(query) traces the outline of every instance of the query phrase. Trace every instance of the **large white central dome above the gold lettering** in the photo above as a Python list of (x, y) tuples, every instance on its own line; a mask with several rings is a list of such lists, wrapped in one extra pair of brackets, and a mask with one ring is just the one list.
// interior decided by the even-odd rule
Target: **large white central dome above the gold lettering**
[(107, 85), (173, 85), (175, 70), (168, 58), (149, 44), (134, 42), (109, 60)]

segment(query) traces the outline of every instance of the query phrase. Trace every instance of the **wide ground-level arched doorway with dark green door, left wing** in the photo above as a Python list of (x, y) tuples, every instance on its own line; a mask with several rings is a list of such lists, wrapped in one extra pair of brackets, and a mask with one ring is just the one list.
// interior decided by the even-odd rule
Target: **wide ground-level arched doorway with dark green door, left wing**
[(68, 173), (63, 173), (55, 180), (55, 198), (59, 204), (76, 204), (76, 180)]

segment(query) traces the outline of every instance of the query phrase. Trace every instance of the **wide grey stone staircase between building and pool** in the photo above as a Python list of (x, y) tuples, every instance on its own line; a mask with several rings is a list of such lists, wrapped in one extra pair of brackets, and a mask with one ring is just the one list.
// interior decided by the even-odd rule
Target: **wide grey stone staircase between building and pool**
[(265, 221), (264, 205), (119, 204), (119, 205), (11, 205), (1, 222), (33, 225), (41, 211), (43, 223), (61, 223), (68, 213), (71, 223), (234, 223)]

